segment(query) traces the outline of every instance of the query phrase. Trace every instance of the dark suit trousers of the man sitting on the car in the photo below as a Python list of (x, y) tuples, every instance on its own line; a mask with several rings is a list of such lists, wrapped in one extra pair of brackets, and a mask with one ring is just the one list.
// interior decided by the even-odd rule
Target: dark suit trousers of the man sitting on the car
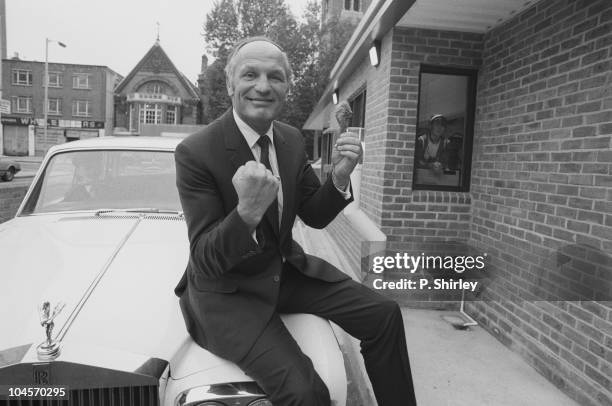
[[(416, 405), (400, 308), (353, 281), (325, 282), (284, 266), (278, 313), (310, 313), (329, 319), (361, 340), (361, 353), (379, 406)], [(274, 406), (326, 406), (327, 387), (312, 361), (274, 314), (238, 365)]]

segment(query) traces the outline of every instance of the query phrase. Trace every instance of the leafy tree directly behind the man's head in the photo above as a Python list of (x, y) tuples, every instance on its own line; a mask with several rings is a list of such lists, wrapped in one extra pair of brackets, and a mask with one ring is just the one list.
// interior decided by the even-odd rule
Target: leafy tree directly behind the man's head
[(308, 3), (299, 21), (285, 0), (220, 0), (206, 15), (204, 38), (217, 58), (206, 71), (208, 121), (229, 108), (223, 69), (232, 45), (241, 38), (266, 35), (287, 53), (293, 78), (281, 120), (301, 128), (329, 81), (329, 72), (354, 26), (335, 22), (320, 27), (321, 10)]

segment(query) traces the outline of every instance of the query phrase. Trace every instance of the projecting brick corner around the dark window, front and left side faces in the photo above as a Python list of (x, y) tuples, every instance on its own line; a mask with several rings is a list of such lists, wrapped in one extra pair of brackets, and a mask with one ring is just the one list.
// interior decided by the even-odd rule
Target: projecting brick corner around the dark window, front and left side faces
[[(420, 64), (478, 67), (482, 39), (470, 33), (395, 29), (382, 40), (380, 65), (374, 68), (366, 58), (340, 84), (341, 100), (364, 86), (367, 90), (360, 209), (387, 235), (391, 249), (411, 243), (416, 252), (431, 248), (432, 239), (469, 239), (470, 195), (413, 191), (412, 170)], [(337, 126), (333, 116), (330, 126)], [(340, 215), (328, 229), (358, 264), (362, 240), (346, 218)], [(404, 303), (422, 307), (416, 299)]]

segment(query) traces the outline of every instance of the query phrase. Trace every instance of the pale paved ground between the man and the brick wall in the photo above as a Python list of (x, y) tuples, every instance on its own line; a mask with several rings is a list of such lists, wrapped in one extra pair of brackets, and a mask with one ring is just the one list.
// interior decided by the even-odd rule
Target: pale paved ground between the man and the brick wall
[[(316, 253), (347, 272), (348, 262), (327, 232), (300, 222), (294, 230), (306, 252)], [(403, 308), (402, 314), (419, 406), (577, 405), (481, 327), (455, 330), (442, 319), (458, 312)], [(348, 362), (363, 367), (358, 344), (346, 338), (341, 344)], [(367, 386), (363, 379), (352, 377), (352, 381)], [(364, 389), (351, 388), (349, 382), (348, 405), (373, 406), (372, 400), (364, 402), (356, 397)]]

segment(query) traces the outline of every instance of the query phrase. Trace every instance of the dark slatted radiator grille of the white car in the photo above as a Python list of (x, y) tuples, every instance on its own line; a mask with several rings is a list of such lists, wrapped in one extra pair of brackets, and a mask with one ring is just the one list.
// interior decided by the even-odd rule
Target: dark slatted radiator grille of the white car
[(159, 406), (157, 385), (69, 391), (67, 400), (12, 399), (8, 406)]

